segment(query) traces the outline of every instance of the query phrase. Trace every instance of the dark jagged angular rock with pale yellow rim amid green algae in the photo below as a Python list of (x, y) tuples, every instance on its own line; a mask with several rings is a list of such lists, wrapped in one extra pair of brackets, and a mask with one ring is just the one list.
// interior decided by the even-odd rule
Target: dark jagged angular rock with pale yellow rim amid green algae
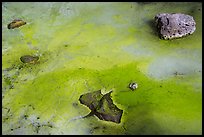
[(97, 116), (100, 120), (112, 121), (120, 123), (123, 110), (119, 109), (110, 97), (109, 93), (102, 95), (101, 91), (83, 94), (80, 96), (79, 101), (81, 104), (88, 106), (91, 112), (85, 116)]

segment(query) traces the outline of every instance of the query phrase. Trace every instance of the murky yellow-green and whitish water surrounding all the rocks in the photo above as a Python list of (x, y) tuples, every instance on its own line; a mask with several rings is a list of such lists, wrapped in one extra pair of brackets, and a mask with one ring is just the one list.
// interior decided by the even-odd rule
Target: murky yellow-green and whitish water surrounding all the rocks
[[(201, 3), (3, 3), (2, 134), (201, 134)], [(158, 13), (196, 31), (161, 40)], [(14, 19), (27, 22), (8, 29)], [(38, 56), (24, 64), (23, 55)], [(130, 82), (138, 89), (131, 91)], [(113, 90), (121, 123), (82, 118), (81, 94)]]

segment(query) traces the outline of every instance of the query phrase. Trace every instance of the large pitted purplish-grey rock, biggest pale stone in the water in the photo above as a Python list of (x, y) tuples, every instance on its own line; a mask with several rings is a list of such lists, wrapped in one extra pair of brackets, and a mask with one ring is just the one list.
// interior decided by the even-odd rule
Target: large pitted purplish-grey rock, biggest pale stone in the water
[(196, 23), (192, 16), (181, 13), (161, 13), (155, 16), (159, 35), (163, 39), (180, 38), (192, 34)]

